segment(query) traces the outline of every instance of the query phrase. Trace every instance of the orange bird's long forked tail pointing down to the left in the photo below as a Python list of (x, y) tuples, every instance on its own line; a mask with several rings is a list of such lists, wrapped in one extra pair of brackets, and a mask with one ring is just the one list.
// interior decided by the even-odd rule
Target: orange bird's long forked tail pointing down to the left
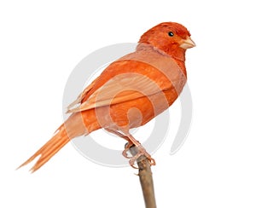
[(38, 170), (42, 165), (44, 165), (52, 156), (57, 153), (61, 147), (64, 147), (70, 139), (67, 136), (67, 131), (65, 130), (64, 124), (61, 124), (60, 128), (56, 130), (55, 135), (46, 142), (43, 147), (41, 147), (37, 153), (34, 153), (30, 159), (27, 159), (25, 163), (20, 165), (18, 169), (28, 163), (32, 162), (33, 159), (39, 159), (34, 166), (32, 166), (31, 171), (34, 172)]

